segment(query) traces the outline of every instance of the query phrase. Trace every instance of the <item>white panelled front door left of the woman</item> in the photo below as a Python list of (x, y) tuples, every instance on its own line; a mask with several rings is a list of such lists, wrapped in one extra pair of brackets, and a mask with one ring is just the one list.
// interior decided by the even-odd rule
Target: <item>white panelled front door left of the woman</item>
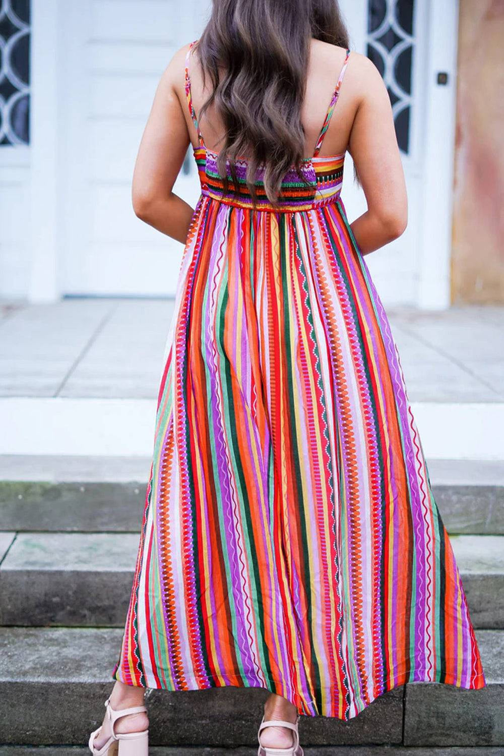
[[(61, 4), (60, 291), (168, 296), (182, 245), (135, 217), (131, 176), (156, 84), (196, 39), (206, 2), (68, 0)], [(188, 153), (175, 192), (194, 206)]]

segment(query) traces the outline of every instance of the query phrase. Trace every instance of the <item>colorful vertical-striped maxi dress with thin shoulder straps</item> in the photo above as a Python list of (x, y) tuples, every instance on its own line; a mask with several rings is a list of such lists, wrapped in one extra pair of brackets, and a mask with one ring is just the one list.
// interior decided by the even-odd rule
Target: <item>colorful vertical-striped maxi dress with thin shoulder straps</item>
[[(193, 43), (194, 44), (194, 43)], [(192, 48), (192, 45), (191, 45)], [(191, 49), (190, 48), (190, 49)], [(355, 717), (413, 681), (485, 685), (397, 347), (319, 151), (280, 206), (201, 181), (159, 389), (131, 601), (113, 677), (262, 687)]]

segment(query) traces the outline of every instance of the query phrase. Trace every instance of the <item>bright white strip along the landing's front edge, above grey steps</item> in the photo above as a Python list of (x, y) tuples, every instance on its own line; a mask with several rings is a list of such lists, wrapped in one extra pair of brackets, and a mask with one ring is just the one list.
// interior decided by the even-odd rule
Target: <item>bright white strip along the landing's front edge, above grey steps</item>
[[(412, 402), (425, 457), (504, 459), (504, 403)], [(153, 399), (0, 398), (0, 454), (149, 457)]]

